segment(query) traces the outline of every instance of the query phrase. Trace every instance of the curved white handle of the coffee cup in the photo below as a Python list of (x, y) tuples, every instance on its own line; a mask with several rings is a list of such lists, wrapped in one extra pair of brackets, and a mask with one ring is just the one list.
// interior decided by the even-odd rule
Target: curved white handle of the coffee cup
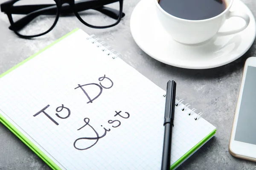
[(231, 34), (239, 33), (240, 31), (243, 31), (249, 25), (249, 23), (250, 23), (249, 15), (245, 14), (243, 12), (230, 11), (229, 15), (227, 16), (227, 19), (230, 19), (231, 17), (240, 17), (240, 18), (244, 19), (245, 25), (242, 26), (241, 28), (236, 29), (236, 30), (217, 32), (217, 34), (219, 36), (225, 36), (225, 35), (231, 35)]

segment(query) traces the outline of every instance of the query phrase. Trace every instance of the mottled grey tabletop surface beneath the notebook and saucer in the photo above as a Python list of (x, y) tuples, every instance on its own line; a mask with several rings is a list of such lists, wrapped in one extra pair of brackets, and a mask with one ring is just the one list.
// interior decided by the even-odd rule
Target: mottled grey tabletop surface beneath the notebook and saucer
[[(3, 3), (5, 0), (0, 0)], [(200, 111), (217, 127), (216, 136), (185, 161), (178, 169), (251, 170), (256, 163), (237, 159), (229, 153), (233, 124), (244, 62), (256, 56), (256, 41), (239, 59), (230, 64), (205, 70), (192, 70), (165, 65), (145, 54), (130, 31), (130, 17), (139, 0), (125, 0), (126, 16), (117, 26), (93, 29), (84, 26), (74, 16), (61, 17), (55, 28), (45, 36), (31, 40), (21, 39), (8, 29), (7, 16), (0, 13), (0, 74), (31, 56), (41, 48), (75, 28), (96, 34), (122, 53), (123, 60), (152, 82), (166, 88), (166, 82), (177, 82), (177, 94)], [(256, 17), (256, 1), (243, 0)], [(149, 168), (150, 169), (150, 168)], [(0, 170), (50, 170), (35, 153), (10, 130), (0, 124)]]

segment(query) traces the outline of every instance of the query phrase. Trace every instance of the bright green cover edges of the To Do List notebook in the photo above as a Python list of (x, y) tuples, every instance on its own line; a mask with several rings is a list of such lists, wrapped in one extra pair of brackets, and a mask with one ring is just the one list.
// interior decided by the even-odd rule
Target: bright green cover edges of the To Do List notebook
[[(73, 34), (74, 32), (76, 32), (77, 30), (79, 30), (79, 28), (74, 29), (73, 31), (71, 31), (70, 33), (64, 35), (63, 37), (59, 38), (58, 40), (56, 40), (55, 42), (53, 42), (52, 44), (48, 45), (47, 47), (41, 49), (40, 51), (38, 51), (37, 53), (35, 53), (34, 55), (28, 57), (27, 59), (23, 60), (23, 62), (20, 62), (19, 64), (15, 65), (13, 68), (9, 69), (8, 71), (4, 72), (3, 74), (0, 75), (0, 78), (7, 75), (8, 73), (10, 73), (11, 71), (15, 70), (16, 68), (18, 68), (20, 65), (23, 65), (25, 62), (29, 61), (30, 59), (34, 58), (35, 56), (37, 56), (38, 54), (42, 53), (43, 51), (45, 51), (47, 48), (52, 47), (53, 45), (55, 45), (57, 42), (61, 41), (62, 39), (64, 39), (65, 37)], [(33, 152), (35, 152), (46, 164), (49, 165), (49, 167), (51, 167), (53, 170), (61, 170), (60, 167), (58, 167), (57, 164), (55, 164), (46, 154), (44, 154), (43, 151), (41, 151), (35, 144), (33, 144), (25, 135), (23, 135), (23, 133), (21, 133), (14, 125), (12, 125), (3, 115), (0, 114), (0, 122), (3, 123), (3, 125), (5, 125), (9, 130), (12, 131), (12, 133), (14, 133), (23, 143), (25, 143)], [(206, 136), (204, 139), (202, 139), (198, 144), (196, 144), (191, 150), (189, 150), (186, 154), (184, 154), (180, 159), (178, 159), (174, 164), (171, 165), (170, 169), (175, 169), (177, 166), (179, 166), (181, 163), (183, 163), (183, 161), (185, 161), (186, 159), (188, 159), (189, 156), (191, 156), (196, 150), (198, 150), (198, 148), (200, 148), (202, 145), (204, 145), (209, 139), (212, 138), (212, 136), (214, 136), (216, 133), (216, 129), (213, 130), (208, 136)]]

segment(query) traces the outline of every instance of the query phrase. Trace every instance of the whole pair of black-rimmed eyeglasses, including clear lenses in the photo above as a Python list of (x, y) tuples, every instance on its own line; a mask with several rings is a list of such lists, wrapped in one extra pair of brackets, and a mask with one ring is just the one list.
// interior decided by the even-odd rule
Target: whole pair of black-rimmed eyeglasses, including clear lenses
[[(47, 1), (47, 2), (45, 2)], [(11, 26), (20, 37), (39, 37), (51, 31), (60, 15), (76, 17), (91, 28), (116, 26), (125, 16), (123, 0), (9, 0), (0, 5)], [(69, 23), (67, 23), (68, 25)]]

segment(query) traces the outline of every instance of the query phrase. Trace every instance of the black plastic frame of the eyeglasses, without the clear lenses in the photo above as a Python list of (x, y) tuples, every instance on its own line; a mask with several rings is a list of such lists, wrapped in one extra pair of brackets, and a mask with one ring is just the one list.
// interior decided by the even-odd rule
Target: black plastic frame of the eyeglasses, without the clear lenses
[[(13, 5), (17, 1), (19, 1), (19, 0), (9, 0), (9, 1), (7, 1), (5, 3), (2, 3), (0, 5), (1, 11), (5, 12), (5, 14), (8, 16), (9, 22), (11, 24), (10, 27), (12, 27), (15, 24), (13, 19), (12, 19), (12, 14), (14, 14), (12, 8), (15, 8), (15, 6), (13, 6)], [(26, 11), (26, 9), (29, 9), (30, 7), (37, 7), (38, 10), (45, 10), (46, 9), (45, 6), (48, 6), (47, 7), (48, 9), (53, 7), (53, 6), (57, 6), (56, 18), (55, 18), (55, 21), (54, 21), (53, 25), (49, 28), (49, 30), (47, 30), (47, 31), (45, 31), (44, 33), (41, 33), (41, 34), (28, 35), (28, 36), (19, 34), (16, 30), (12, 30), (12, 29), (11, 30), (14, 31), (15, 34), (17, 34), (18, 36), (23, 37), (23, 38), (39, 37), (39, 36), (42, 36), (44, 34), (49, 33), (49, 31), (51, 31), (56, 26), (56, 24), (58, 22), (58, 19), (59, 19), (59, 16), (61, 14), (62, 5), (64, 3), (67, 3), (70, 6), (71, 10), (75, 14), (75, 16), (81, 21), (81, 23), (83, 23), (86, 26), (89, 26), (90, 28), (109, 28), (109, 27), (112, 27), (112, 26), (116, 26), (121, 21), (122, 17), (125, 16), (125, 14), (122, 12), (123, 0), (80, 0), (80, 1), (78, 1), (76, 3), (75, 3), (75, 0), (54, 0), (54, 1), (55, 1), (56, 5), (55, 4), (50, 4), (50, 5), (46, 4), (46, 5), (27, 5), (27, 6), (22, 6), (25, 9), (25, 11)], [(80, 17), (80, 15), (78, 14), (79, 11), (77, 11), (76, 7), (75, 7), (75, 5), (79, 6), (80, 8), (82, 7), (83, 11), (84, 11), (84, 10), (87, 10), (87, 9), (102, 8), (105, 5), (108, 5), (108, 4), (111, 4), (111, 3), (115, 3), (115, 2), (119, 2), (119, 14), (118, 14), (118, 18), (117, 18), (116, 23), (111, 24), (109, 26), (93, 26), (91, 24), (86, 23)], [(31, 9), (30, 9), (30, 11), (31, 11)], [(102, 12), (102, 13), (104, 13), (104, 12)]]

